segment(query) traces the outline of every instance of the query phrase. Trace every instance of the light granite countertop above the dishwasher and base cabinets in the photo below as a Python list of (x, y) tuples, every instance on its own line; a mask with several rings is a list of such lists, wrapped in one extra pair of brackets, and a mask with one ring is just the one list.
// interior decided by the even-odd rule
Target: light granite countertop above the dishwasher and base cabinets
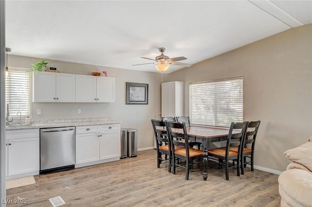
[(30, 124), (18, 124), (13, 122), (10, 124), (10, 126), (6, 125), (6, 130), (39, 129), (39, 128), (53, 128), (66, 126), (90, 126), (90, 125), (103, 125), (116, 123), (121, 123), (121, 121), (111, 120), (110, 117), (50, 119), (50, 120), (31, 121)]

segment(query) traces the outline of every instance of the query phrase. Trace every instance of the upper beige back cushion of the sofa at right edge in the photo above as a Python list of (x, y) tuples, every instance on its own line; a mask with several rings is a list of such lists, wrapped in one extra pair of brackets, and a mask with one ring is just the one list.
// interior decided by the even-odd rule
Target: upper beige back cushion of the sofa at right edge
[(299, 147), (287, 150), (284, 155), (293, 162), (300, 163), (312, 171), (312, 142), (308, 141)]

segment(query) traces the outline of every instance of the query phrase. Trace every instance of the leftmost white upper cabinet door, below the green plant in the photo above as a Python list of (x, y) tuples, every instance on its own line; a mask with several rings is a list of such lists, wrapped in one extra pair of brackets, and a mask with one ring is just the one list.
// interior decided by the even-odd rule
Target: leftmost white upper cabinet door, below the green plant
[(56, 74), (54, 72), (38, 72), (32, 74), (33, 102), (56, 102)]

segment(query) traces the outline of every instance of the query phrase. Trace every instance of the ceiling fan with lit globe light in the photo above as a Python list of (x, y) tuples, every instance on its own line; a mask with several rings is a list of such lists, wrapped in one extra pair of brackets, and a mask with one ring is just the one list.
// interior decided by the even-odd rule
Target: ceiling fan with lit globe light
[(159, 50), (159, 52), (161, 52), (161, 54), (156, 56), (155, 59), (151, 59), (151, 58), (147, 58), (147, 57), (141, 57), (141, 58), (148, 59), (148, 60), (154, 60), (155, 62), (136, 64), (136, 65), (132, 65), (132, 66), (156, 64), (155, 65), (156, 69), (158, 69), (161, 72), (167, 70), (170, 65), (185, 66), (185, 67), (192, 66), (192, 64), (176, 62), (176, 61), (186, 60), (187, 59), (186, 57), (182, 56), (182, 57), (169, 58), (168, 56), (164, 55), (166, 48), (158, 48), (158, 50)]

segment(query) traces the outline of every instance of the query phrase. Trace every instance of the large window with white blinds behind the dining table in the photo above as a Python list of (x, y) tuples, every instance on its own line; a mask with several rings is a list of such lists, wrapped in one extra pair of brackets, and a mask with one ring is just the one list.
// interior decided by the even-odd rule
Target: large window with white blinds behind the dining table
[(230, 126), (243, 121), (243, 77), (191, 83), (192, 124)]

